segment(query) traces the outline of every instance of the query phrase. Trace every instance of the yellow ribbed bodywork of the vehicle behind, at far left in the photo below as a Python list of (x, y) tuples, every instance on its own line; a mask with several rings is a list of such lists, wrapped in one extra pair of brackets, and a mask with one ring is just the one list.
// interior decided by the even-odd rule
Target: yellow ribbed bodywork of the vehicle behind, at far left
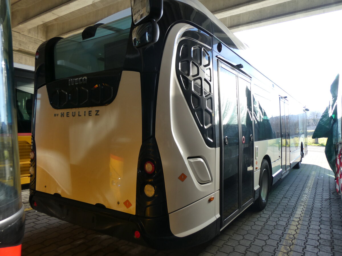
[(30, 183), (30, 153), (31, 136), (18, 136), (19, 161), (20, 161), (20, 182)]

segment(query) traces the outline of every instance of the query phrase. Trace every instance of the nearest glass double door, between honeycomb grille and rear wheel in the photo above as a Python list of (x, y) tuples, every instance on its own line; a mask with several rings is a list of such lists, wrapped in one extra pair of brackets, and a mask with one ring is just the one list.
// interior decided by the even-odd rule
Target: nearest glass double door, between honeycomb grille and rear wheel
[(253, 201), (253, 129), (250, 77), (220, 61), (218, 77), (224, 227)]

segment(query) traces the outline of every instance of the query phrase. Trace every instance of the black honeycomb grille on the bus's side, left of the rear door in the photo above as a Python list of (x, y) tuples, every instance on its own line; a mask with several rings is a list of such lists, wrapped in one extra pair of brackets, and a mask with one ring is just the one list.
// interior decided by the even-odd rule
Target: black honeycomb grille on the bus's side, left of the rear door
[(215, 147), (211, 49), (184, 39), (177, 46), (176, 74), (203, 139)]

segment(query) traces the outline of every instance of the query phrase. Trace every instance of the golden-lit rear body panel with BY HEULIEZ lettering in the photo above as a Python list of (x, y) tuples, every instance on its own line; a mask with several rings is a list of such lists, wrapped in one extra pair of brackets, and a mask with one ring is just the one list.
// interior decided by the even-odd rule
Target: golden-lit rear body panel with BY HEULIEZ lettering
[(100, 107), (56, 110), (39, 88), (36, 190), (135, 214), (141, 113), (139, 72), (123, 71), (116, 98)]

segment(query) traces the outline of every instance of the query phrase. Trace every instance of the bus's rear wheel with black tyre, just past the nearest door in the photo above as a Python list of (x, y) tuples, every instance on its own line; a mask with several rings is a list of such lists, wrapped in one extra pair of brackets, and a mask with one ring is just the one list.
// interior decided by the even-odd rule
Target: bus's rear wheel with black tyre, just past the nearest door
[(265, 209), (270, 186), (269, 179), (269, 165), (266, 160), (262, 160), (260, 167), (260, 177), (259, 177), (259, 197), (254, 201), (254, 208), (257, 211), (262, 211)]

